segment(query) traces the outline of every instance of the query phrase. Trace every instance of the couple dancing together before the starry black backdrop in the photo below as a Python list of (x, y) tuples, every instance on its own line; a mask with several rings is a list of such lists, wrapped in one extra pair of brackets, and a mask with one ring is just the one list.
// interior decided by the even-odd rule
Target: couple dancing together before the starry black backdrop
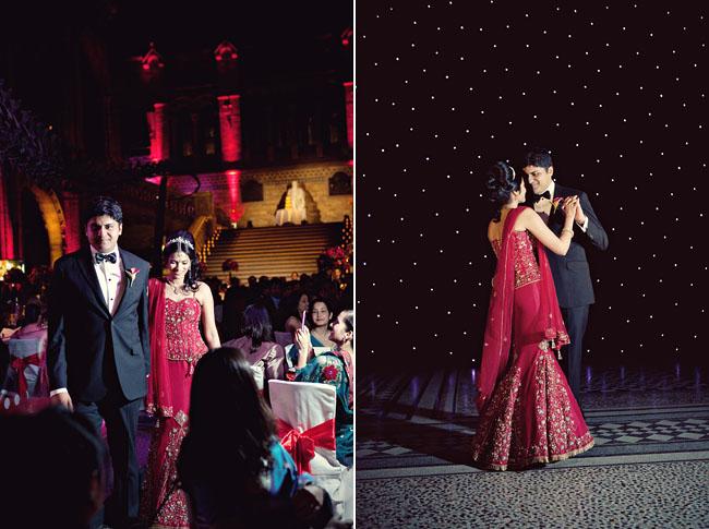
[[(586, 249), (608, 248), (588, 196), (552, 181), (545, 151), (522, 171), (489, 171), (497, 257), (478, 377), (473, 460), (491, 470), (558, 461), (593, 446), (578, 405), (582, 338), (593, 290)], [(543, 248), (542, 248), (543, 247)], [(568, 382), (555, 353), (564, 360)]]

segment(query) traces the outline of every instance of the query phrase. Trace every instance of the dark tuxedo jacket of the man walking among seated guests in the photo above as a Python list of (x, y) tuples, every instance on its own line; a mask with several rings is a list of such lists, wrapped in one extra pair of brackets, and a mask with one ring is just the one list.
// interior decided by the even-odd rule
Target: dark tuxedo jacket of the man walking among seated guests
[[(88, 248), (55, 263), (48, 310), (49, 386), (68, 388), (73, 399), (96, 401), (109, 389), (120, 389), (129, 400), (146, 393), (151, 365), (149, 264), (125, 250), (118, 251), (123, 270), (140, 272), (132, 284), (124, 276), (125, 289), (113, 315), (101, 293)], [(115, 363), (115, 370), (108, 362)], [(118, 387), (110, 387), (113, 384)]]

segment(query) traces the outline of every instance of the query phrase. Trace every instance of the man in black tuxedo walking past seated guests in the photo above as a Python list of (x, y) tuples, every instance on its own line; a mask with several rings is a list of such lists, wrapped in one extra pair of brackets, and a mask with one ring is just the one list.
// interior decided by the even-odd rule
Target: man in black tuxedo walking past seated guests
[[(113, 199), (96, 199), (83, 223), (89, 247), (57, 260), (49, 291), (50, 395), (97, 434), (106, 421), (113, 464), (106, 520), (131, 527), (140, 493), (135, 433), (149, 373), (149, 265), (118, 248), (123, 215)], [(93, 527), (101, 526), (103, 515)]]

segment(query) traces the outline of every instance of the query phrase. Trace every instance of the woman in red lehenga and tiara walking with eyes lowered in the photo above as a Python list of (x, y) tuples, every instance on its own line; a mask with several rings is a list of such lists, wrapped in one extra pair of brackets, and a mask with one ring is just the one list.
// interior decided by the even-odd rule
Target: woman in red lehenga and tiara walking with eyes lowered
[[(167, 277), (148, 282), (151, 375), (146, 411), (157, 417), (141, 497), (149, 527), (189, 528), (184, 492), (176, 486), (176, 460), (187, 434), (192, 373), (197, 360), (220, 347), (209, 287), (197, 281), (199, 260), (189, 231), (178, 231), (163, 250)], [(204, 338), (200, 334), (202, 322)]]

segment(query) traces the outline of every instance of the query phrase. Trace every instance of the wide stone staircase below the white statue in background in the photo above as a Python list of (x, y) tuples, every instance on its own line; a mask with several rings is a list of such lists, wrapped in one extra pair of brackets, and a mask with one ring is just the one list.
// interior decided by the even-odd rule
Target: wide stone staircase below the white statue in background
[(341, 223), (224, 229), (207, 257), (204, 277), (216, 276), (228, 282), (229, 273), (221, 269), (228, 259), (239, 263), (231, 276), (242, 284), (249, 276), (289, 279), (293, 272), (315, 274), (317, 256), (339, 244), (341, 230)]

